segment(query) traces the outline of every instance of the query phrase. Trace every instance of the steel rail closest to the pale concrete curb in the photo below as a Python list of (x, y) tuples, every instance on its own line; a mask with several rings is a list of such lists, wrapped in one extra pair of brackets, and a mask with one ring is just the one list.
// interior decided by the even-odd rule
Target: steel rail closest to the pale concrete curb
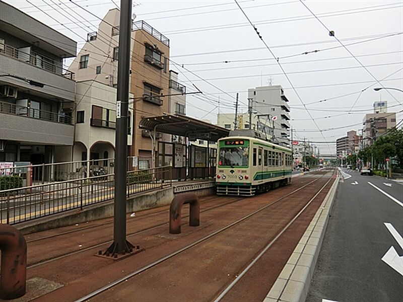
[[(332, 175), (333, 176), (333, 175)], [(303, 213), (303, 211), (311, 204), (311, 202), (319, 195), (320, 192), (327, 186), (327, 184), (332, 180), (332, 177), (319, 189), (318, 192), (308, 201), (308, 203), (287, 223), (287, 225), (281, 230), (281, 232), (266, 245), (266, 247), (249, 263), (245, 269), (236, 276), (236, 278), (218, 295), (218, 297), (214, 300), (214, 302), (219, 302), (221, 299), (234, 287), (236, 283), (242, 278), (244, 274), (246, 274), (249, 269), (264, 255), (264, 253), (270, 249), (270, 247), (283, 235), (284, 232), (290, 227), (290, 225)]]

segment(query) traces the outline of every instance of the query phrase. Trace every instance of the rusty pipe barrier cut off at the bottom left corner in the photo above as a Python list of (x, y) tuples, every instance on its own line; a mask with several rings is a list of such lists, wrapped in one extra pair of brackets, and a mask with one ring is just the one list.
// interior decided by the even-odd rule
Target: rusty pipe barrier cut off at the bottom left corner
[(0, 224), (2, 276), (0, 298), (15, 299), (25, 294), (27, 279), (27, 244), (24, 236), (11, 225)]

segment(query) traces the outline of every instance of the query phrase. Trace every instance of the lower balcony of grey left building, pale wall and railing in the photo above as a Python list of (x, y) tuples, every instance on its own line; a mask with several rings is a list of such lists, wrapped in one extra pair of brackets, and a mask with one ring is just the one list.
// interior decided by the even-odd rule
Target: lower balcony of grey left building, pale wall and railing
[(36, 144), (73, 145), (72, 117), (0, 102), (2, 139)]

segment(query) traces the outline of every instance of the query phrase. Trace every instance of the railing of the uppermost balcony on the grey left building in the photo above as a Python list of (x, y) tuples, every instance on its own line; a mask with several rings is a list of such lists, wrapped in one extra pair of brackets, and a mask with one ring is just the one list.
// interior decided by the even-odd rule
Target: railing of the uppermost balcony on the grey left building
[(21, 51), (18, 48), (14, 48), (13, 46), (0, 43), (0, 54), (11, 56), (30, 65), (61, 75), (64, 78), (70, 80), (75, 79), (74, 72), (64, 69), (62, 66), (55, 64), (53, 59), (43, 56), (34, 51), (30, 51), (29, 53), (27, 53), (25, 51)]

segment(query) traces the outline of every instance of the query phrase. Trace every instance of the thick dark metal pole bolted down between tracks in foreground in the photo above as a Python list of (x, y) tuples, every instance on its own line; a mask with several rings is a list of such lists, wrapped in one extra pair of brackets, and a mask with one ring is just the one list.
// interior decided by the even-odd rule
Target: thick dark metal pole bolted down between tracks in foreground
[(127, 115), (131, 44), (131, 0), (120, 1), (119, 25), (113, 243), (104, 253), (106, 256), (115, 258), (117, 258), (117, 254), (130, 253), (133, 249), (133, 245), (126, 240)]

